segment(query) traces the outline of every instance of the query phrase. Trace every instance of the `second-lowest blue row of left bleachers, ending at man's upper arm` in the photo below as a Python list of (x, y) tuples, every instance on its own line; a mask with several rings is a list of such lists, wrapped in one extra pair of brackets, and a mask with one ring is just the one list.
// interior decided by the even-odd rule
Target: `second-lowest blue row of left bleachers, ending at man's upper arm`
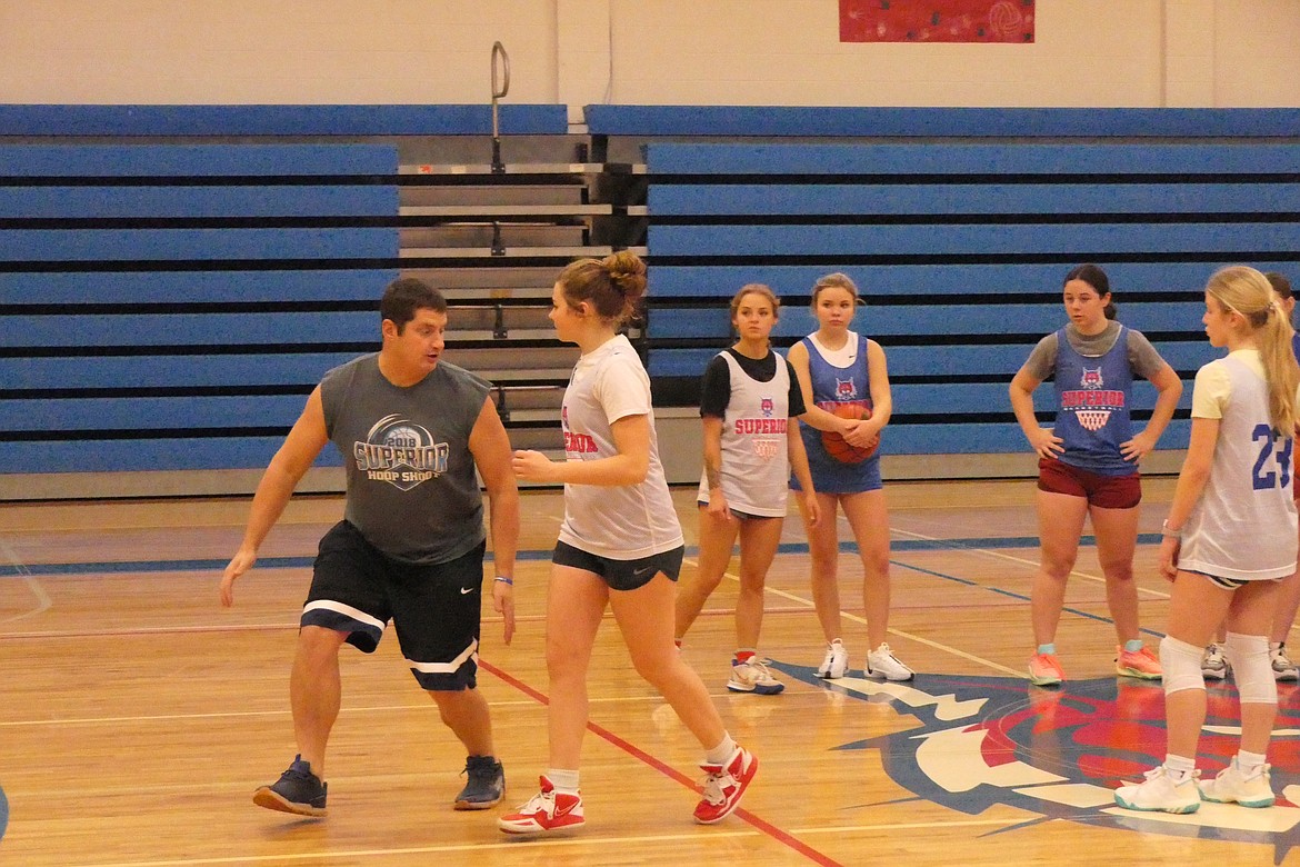
[(306, 395), (36, 398), (0, 400), (0, 435), (18, 430), (289, 428)]

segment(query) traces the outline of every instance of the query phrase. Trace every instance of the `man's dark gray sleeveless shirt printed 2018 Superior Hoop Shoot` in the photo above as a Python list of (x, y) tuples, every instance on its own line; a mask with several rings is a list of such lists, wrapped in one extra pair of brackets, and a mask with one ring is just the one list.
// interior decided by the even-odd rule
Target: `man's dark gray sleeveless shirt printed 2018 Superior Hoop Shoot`
[(484, 541), (469, 432), (490, 387), (446, 361), (395, 386), (376, 354), (325, 374), (325, 430), (347, 467), (343, 516), (370, 545), (398, 560), (446, 563)]

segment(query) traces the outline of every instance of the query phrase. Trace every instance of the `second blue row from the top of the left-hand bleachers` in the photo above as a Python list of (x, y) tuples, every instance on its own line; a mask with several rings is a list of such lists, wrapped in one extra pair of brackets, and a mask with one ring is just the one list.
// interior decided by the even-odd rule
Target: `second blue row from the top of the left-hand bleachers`
[[(0, 105), (0, 135), (20, 135), (3, 131), (10, 108)], [(0, 146), (0, 178), (391, 175), (396, 170), (398, 149), (391, 144)]]

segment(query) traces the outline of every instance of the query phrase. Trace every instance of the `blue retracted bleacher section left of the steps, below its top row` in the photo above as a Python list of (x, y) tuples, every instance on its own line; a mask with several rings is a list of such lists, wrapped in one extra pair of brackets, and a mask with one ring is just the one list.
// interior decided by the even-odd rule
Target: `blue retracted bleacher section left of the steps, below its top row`
[(374, 347), (393, 147), (9, 146), (0, 165), (8, 472), (264, 464), (321, 373)]

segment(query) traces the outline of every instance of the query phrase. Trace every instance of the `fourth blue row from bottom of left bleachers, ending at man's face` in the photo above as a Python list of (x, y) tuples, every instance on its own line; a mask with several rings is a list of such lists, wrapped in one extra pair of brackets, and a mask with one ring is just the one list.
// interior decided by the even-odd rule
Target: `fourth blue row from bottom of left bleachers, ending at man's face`
[(4, 347), (377, 343), (377, 312), (0, 317)]

